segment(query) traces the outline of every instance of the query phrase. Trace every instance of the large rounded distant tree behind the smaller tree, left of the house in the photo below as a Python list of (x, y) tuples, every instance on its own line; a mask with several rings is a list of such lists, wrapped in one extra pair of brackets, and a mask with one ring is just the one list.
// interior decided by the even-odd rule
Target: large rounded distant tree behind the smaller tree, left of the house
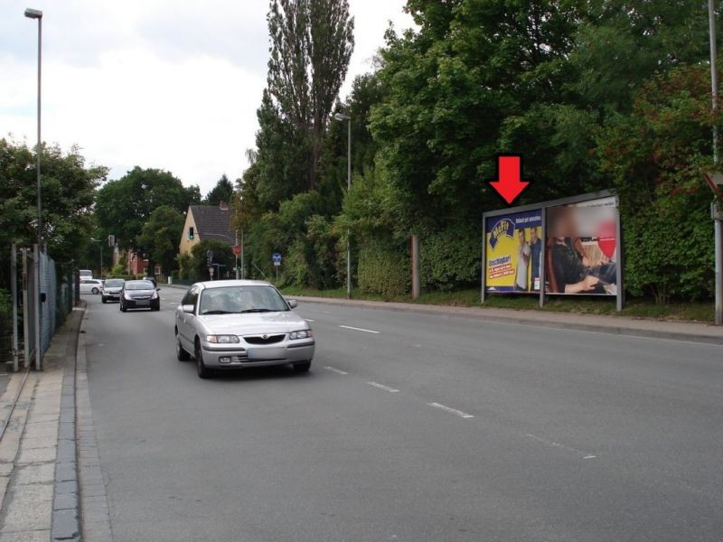
[(115, 235), (122, 247), (135, 248), (146, 220), (162, 205), (184, 213), (199, 203), (198, 186), (183, 187), (170, 172), (136, 166), (98, 192), (96, 216), (104, 235)]

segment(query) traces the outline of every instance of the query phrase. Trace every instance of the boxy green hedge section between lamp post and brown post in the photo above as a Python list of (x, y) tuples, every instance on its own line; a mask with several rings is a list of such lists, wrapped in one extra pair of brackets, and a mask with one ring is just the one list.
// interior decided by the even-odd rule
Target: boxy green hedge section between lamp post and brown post
[(364, 294), (406, 295), (411, 283), (408, 251), (393, 243), (365, 243), (359, 249), (357, 274), (359, 289)]

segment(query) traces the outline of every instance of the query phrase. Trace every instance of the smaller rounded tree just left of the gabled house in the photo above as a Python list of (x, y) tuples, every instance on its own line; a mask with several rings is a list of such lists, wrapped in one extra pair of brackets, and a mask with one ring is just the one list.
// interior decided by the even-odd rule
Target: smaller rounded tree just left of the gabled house
[(137, 248), (148, 254), (151, 268), (159, 263), (166, 275), (176, 267), (178, 240), (183, 232), (183, 214), (170, 205), (157, 207), (143, 225)]

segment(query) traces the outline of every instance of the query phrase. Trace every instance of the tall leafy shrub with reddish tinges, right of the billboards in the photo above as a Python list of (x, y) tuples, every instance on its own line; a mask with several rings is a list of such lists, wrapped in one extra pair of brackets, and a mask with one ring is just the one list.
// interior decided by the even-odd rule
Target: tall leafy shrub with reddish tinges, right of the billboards
[(598, 153), (615, 182), (623, 220), (627, 288), (659, 303), (713, 291), (713, 168), (709, 69), (681, 66), (643, 84), (632, 113), (612, 118)]

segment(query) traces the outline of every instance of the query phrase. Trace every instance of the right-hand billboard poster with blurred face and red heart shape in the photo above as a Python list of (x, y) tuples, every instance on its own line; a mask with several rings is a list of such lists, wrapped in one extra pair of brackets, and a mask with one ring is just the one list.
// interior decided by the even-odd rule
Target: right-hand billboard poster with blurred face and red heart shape
[(615, 197), (547, 209), (550, 294), (617, 294)]

